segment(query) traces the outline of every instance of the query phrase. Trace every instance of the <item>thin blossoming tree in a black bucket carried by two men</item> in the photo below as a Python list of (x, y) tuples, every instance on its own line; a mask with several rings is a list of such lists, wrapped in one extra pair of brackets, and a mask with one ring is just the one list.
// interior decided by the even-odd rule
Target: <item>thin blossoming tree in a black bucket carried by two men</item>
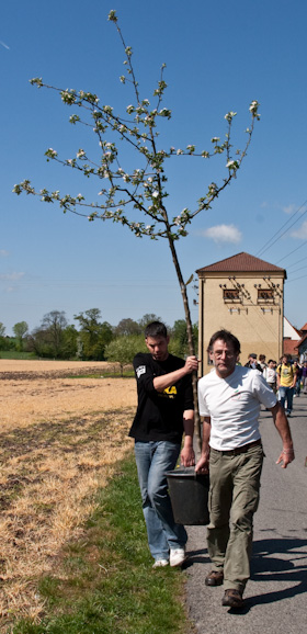
[[(36, 84), (38, 88), (45, 87), (57, 91), (65, 104), (75, 106), (79, 113), (82, 113), (82, 115), (72, 114), (69, 117), (71, 124), (79, 123), (93, 128), (100, 146), (99, 162), (92, 160), (88, 156), (87, 150), (82, 148), (79, 149), (75, 158), (70, 159), (59, 158), (58, 152), (53, 148), (47, 149), (45, 154), (47, 160), (57, 161), (80, 171), (86, 177), (96, 179), (99, 183), (99, 202), (98, 200), (89, 202), (82, 194), (77, 196), (62, 195), (58, 190), (54, 192), (46, 189), (36, 191), (29, 180), (14, 185), (13, 192), (16, 194), (26, 192), (27, 194), (38, 195), (46, 203), (57, 202), (65, 213), (71, 212), (84, 216), (90, 222), (111, 219), (114, 223), (126, 226), (138, 238), (144, 236), (152, 240), (164, 238), (171, 252), (182, 294), (190, 354), (194, 354), (192, 321), (187, 299), (187, 284), (193, 275), (187, 282), (184, 282), (175, 245), (180, 238), (187, 235), (187, 227), (195, 216), (205, 210), (209, 210), (215, 199), (236, 178), (247, 155), (254, 123), (260, 118), (258, 113), (259, 103), (252, 101), (250, 104), (251, 123), (250, 127), (246, 129), (247, 139), (242, 150), (234, 151), (230, 143), (232, 122), (236, 116), (235, 112), (228, 112), (225, 116), (227, 122), (225, 140), (221, 143), (219, 137), (213, 137), (209, 150), (198, 151), (194, 145), (187, 145), (185, 149), (163, 147), (157, 127), (161, 117), (171, 118), (171, 111), (168, 107), (162, 107), (167, 88), (164, 81), (166, 65), (163, 64), (161, 67), (160, 80), (154, 91), (155, 104), (151, 105), (148, 99), (144, 99), (140, 95), (132, 61), (133, 50), (130, 46), (126, 46), (115, 11), (110, 12), (109, 20), (116, 26), (125, 50), (125, 75), (122, 75), (120, 79), (123, 84), (130, 84), (134, 95), (133, 103), (127, 105), (123, 113), (114, 112), (111, 105), (101, 104), (96, 94), (91, 92), (70, 89), (61, 90), (44, 83), (42, 78), (31, 80), (31, 83)], [(126, 158), (127, 154), (121, 154), (120, 151), (117, 143), (120, 140), (126, 141), (126, 146), (130, 150), (128, 161)], [(208, 160), (215, 155), (224, 155), (225, 157), (225, 178), (219, 184), (212, 182), (196, 201), (194, 208), (184, 207), (178, 215), (171, 217), (166, 202), (169, 195), (166, 176), (167, 160), (174, 158), (180, 160), (181, 156)], [(134, 167), (126, 169), (125, 165), (127, 162)], [(193, 380), (193, 389), (195, 411), (197, 411), (196, 376)], [(198, 421), (198, 418), (196, 420)], [(196, 428), (198, 428), (198, 424), (196, 424)]]

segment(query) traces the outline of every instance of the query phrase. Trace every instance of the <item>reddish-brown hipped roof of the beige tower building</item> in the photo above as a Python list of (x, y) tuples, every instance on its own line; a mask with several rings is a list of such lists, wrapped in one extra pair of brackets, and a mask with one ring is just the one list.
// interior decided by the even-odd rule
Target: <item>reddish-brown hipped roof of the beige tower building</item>
[(286, 279), (286, 271), (285, 269), (281, 269), (280, 267), (275, 267), (275, 264), (270, 264), (270, 262), (265, 262), (264, 260), (260, 260), (259, 258), (254, 258), (254, 256), (250, 256), (242, 251), (241, 253), (237, 253), (237, 256), (232, 256), (231, 258), (226, 258), (225, 260), (219, 260), (214, 264), (209, 264), (208, 267), (203, 267), (202, 269), (197, 269), (196, 273), (212, 273), (212, 272), (231, 272), (231, 273), (239, 273), (239, 272), (274, 272), (274, 273), (283, 273)]

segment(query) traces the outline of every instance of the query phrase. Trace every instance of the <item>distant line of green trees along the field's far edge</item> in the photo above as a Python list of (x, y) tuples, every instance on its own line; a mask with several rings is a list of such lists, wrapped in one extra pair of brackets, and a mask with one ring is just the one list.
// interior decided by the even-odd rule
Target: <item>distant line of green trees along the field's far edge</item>
[[(136, 352), (146, 350), (144, 330), (150, 321), (161, 320), (154, 314), (140, 319), (124, 318), (117, 326), (102, 320), (99, 308), (90, 308), (73, 319), (78, 327), (69, 324), (64, 310), (52, 310), (44, 315), (41, 325), (29, 330), (26, 321), (13, 326), (14, 337), (5, 336), (5, 327), (0, 321), (0, 351), (29, 352), (42, 359), (76, 359), (84, 361), (114, 361), (124, 365), (130, 363)], [(187, 354), (186, 324), (178, 319), (168, 327), (171, 336), (170, 351), (179, 356)], [(197, 344), (197, 326), (193, 327)]]

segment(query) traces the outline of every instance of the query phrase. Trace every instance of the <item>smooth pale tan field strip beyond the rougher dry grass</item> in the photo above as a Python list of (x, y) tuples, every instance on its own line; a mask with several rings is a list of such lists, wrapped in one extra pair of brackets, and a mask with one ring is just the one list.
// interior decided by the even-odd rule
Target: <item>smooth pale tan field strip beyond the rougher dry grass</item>
[[(135, 407), (134, 378), (104, 378), (110, 369), (114, 365), (106, 362), (0, 359), (1, 430)], [(98, 378), (78, 378), (93, 373)]]

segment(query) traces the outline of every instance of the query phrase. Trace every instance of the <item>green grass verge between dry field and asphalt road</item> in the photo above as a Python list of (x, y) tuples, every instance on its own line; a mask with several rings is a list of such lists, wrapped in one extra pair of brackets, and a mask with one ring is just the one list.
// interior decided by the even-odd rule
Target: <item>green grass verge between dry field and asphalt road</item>
[(82, 539), (60, 553), (39, 580), (46, 614), (14, 634), (183, 634), (192, 631), (182, 601), (184, 573), (152, 570), (133, 457), (117, 465)]

